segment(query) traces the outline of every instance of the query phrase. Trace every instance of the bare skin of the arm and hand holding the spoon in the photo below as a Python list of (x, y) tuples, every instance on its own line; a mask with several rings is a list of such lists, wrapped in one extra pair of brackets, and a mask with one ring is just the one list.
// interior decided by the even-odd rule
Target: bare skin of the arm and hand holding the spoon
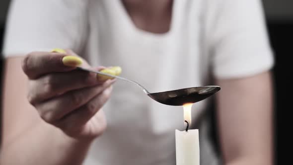
[(0, 163), (80, 165), (91, 141), (105, 130), (101, 107), (115, 80), (72, 71), (62, 64), (64, 56), (33, 52), (6, 60)]

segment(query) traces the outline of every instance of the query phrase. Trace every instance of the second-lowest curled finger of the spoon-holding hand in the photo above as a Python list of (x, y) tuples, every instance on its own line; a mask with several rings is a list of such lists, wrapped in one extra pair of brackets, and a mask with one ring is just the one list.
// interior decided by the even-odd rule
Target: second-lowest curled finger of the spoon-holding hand
[(61, 119), (72, 110), (81, 107), (94, 96), (103, 92), (115, 81), (107, 81), (101, 85), (73, 90), (40, 104), (36, 108), (40, 116), (48, 123)]

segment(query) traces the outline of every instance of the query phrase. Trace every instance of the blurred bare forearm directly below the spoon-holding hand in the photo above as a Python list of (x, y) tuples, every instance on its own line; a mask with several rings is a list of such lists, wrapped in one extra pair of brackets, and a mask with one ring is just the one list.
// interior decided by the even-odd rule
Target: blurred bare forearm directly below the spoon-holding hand
[[(45, 125), (45, 126), (44, 126)], [(37, 123), (32, 129), (2, 144), (2, 165), (81, 165), (90, 141), (78, 141), (61, 130)]]

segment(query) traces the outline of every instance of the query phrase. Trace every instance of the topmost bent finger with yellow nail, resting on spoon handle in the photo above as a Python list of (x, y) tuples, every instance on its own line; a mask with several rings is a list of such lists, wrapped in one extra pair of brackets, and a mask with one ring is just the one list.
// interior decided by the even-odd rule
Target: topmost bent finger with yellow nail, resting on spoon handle
[(22, 61), (22, 70), (30, 79), (52, 72), (67, 72), (75, 69), (70, 65), (80, 65), (83, 60), (79, 57), (62, 53), (32, 52)]

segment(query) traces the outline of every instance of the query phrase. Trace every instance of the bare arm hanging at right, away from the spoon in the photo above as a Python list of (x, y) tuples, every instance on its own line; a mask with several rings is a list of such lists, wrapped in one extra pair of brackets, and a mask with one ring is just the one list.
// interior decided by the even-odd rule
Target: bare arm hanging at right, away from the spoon
[(272, 81), (269, 72), (217, 80), (220, 146), (226, 165), (273, 165)]

